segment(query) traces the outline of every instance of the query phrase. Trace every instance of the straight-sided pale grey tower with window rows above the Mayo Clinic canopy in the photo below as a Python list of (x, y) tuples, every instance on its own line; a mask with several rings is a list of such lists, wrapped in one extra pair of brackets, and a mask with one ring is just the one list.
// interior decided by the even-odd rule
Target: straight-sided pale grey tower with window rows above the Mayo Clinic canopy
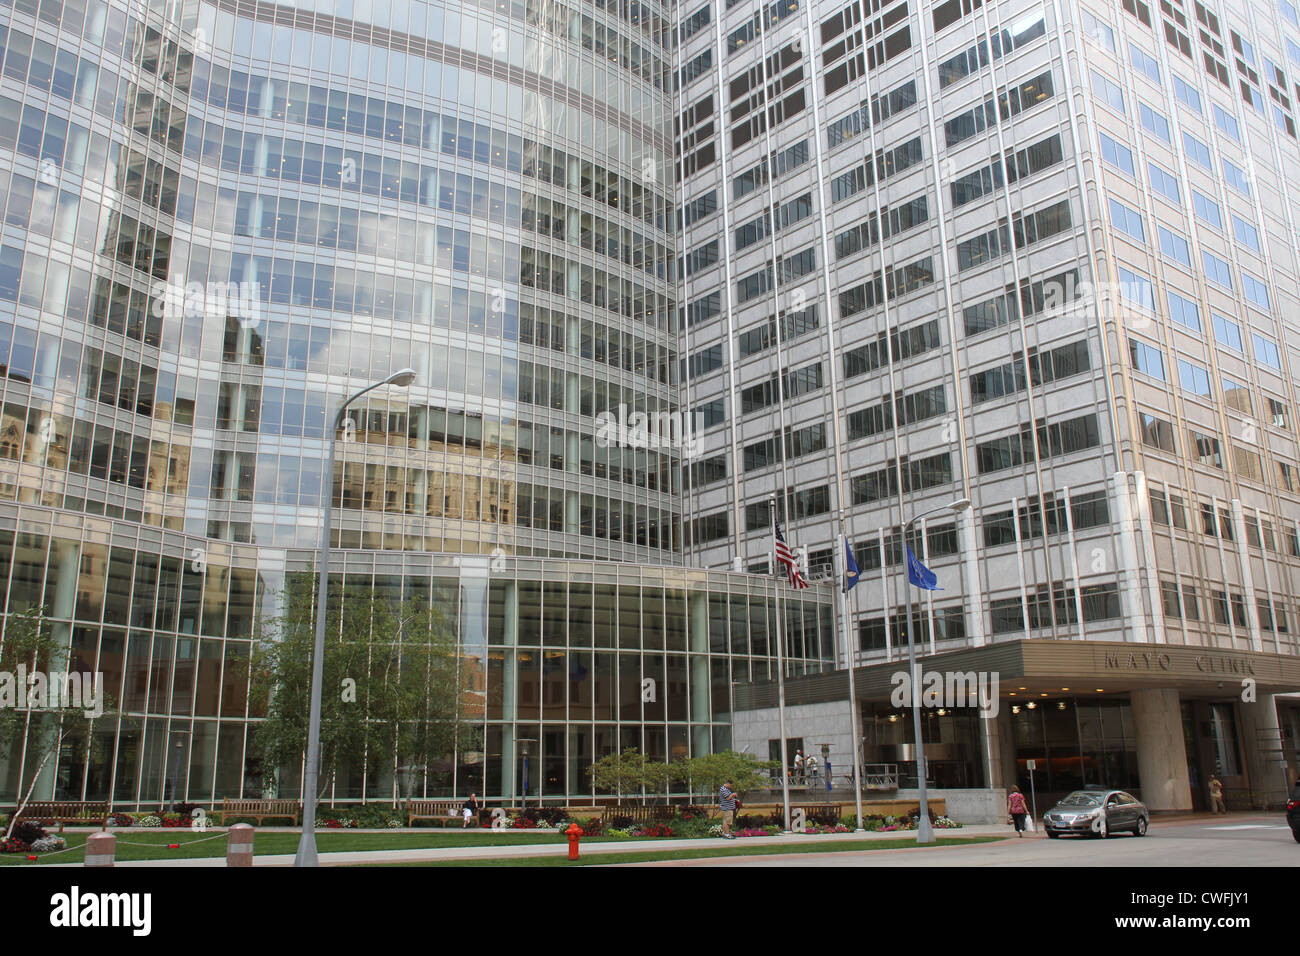
[(970, 497), (931, 650), (1295, 653), (1296, 5), (679, 10), (688, 559), (766, 567), (776, 493), (829, 574), (842, 510), (888, 659)]

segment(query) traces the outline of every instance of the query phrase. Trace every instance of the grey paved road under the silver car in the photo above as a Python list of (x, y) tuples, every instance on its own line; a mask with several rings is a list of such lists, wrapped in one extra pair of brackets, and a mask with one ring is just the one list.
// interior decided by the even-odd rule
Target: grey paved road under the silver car
[(972, 847), (870, 853), (797, 853), (715, 860), (668, 860), (625, 866), (1296, 866), (1300, 844), (1282, 814), (1231, 814), (1152, 823), (1144, 838), (1106, 840), (1041, 832)]

